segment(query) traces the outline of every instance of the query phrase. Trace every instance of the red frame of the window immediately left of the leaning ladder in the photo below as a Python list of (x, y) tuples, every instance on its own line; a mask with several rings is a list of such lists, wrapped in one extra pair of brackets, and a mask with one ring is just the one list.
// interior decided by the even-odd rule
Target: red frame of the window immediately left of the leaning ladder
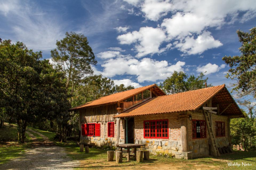
[[(196, 126), (196, 122), (200, 122), (200, 126)], [(197, 128), (200, 127), (200, 128)], [(207, 138), (207, 127), (205, 120), (192, 120), (192, 139)], [(200, 131), (200, 138), (196, 137), (197, 131)]]

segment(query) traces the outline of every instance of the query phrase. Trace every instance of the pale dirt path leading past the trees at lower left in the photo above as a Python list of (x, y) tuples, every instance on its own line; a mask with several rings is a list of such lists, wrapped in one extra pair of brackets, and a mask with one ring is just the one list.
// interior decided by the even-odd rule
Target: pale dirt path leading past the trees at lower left
[(32, 138), (32, 147), (25, 151), (25, 154), (0, 165), (0, 169), (73, 169), (79, 167), (79, 161), (74, 161), (67, 156), (65, 148), (52, 145), (49, 139), (34, 130), (45, 141), (37, 142), (36, 137), (27, 133)]

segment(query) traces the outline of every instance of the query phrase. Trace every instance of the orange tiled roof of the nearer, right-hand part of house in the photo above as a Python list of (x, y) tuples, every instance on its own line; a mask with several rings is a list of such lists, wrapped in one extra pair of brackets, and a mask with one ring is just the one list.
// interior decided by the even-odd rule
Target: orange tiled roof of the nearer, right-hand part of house
[[(132, 117), (146, 114), (196, 111), (222, 90), (228, 91), (225, 88), (225, 84), (222, 84), (221, 86), (181, 92), (179, 94), (158, 96), (155, 97), (154, 100), (148, 101), (141, 107), (133, 109), (128, 113), (121, 113), (115, 117)], [(229, 97), (232, 98), (231, 95)], [(235, 109), (237, 110), (238, 114), (242, 114), (240, 108), (236, 105), (236, 102), (233, 102), (233, 104), (235, 105)]]

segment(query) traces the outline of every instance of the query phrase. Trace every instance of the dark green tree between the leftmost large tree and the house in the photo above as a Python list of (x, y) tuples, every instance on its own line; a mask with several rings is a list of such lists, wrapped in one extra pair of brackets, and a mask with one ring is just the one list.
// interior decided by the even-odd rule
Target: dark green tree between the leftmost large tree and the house
[(66, 88), (65, 73), (60, 70), (53, 69), (48, 60), (43, 60), (44, 70), (40, 74), (40, 112), (37, 121), (50, 122), (55, 121), (57, 130), (60, 134), (60, 141), (66, 141), (69, 121), (73, 116), (73, 112), (68, 112), (71, 108), (69, 102), (68, 90)]

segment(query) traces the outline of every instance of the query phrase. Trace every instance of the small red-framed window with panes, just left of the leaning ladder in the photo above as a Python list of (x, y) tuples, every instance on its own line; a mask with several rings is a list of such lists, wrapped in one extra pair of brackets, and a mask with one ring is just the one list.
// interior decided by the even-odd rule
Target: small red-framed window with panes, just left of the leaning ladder
[(197, 139), (197, 138), (206, 138), (207, 133), (206, 133), (206, 124), (204, 120), (193, 120), (192, 121), (192, 138)]

